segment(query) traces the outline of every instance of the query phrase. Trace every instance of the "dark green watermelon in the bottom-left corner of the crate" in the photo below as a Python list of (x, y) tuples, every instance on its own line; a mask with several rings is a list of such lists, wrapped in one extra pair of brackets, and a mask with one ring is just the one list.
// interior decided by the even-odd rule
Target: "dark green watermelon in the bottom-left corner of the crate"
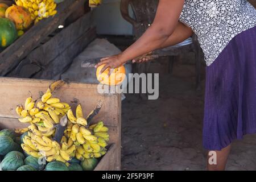
[(11, 155), (3, 159), (0, 166), (3, 171), (16, 170), (23, 166), (24, 162), (20, 155)]

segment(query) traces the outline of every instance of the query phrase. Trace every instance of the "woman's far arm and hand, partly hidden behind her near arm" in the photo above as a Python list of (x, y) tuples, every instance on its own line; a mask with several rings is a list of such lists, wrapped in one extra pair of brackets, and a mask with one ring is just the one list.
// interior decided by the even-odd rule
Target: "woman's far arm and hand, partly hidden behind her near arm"
[[(172, 35), (170, 35), (168, 37), (168, 39), (161, 44), (160, 48), (165, 48), (165, 47), (169, 47), (169, 46), (174, 46), (176, 44), (179, 44), (181, 42), (183, 42), (184, 40), (188, 39), (189, 37), (191, 37), (193, 35), (193, 31), (192, 28), (186, 26), (185, 24), (179, 22), (174, 30), (174, 32), (172, 33)], [(142, 59), (139, 60), (133, 60), (133, 63), (143, 63), (143, 62), (147, 62), (148, 60), (144, 57)]]

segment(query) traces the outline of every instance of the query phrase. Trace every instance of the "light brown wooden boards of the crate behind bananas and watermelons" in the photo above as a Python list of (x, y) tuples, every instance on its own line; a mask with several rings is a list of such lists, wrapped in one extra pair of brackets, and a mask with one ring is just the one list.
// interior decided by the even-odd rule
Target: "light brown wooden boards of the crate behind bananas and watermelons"
[[(26, 78), (0, 77), (0, 128), (14, 129), (27, 126), (20, 123), (15, 113), (15, 107), (23, 104), (27, 97), (39, 98), (40, 92), (45, 92), (52, 80), (35, 80)], [(110, 148), (100, 160), (95, 170), (119, 170), (121, 167), (121, 96), (119, 94), (99, 94), (97, 85), (71, 82), (56, 90), (54, 96), (68, 102), (72, 109), (81, 103), (84, 114), (89, 114), (97, 104), (103, 101), (100, 113), (93, 118), (92, 123), (102, 119), (109, 127)]]

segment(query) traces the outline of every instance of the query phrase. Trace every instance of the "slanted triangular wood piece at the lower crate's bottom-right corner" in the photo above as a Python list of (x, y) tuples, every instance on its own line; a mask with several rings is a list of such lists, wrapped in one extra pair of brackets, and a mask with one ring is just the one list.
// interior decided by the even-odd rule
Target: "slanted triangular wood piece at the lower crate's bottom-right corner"
[(118, 151), (117, 144), (113, 143), (108, 152), (102, 157), (94, 171), (117, 171), (120, 170), (116, 159)]

